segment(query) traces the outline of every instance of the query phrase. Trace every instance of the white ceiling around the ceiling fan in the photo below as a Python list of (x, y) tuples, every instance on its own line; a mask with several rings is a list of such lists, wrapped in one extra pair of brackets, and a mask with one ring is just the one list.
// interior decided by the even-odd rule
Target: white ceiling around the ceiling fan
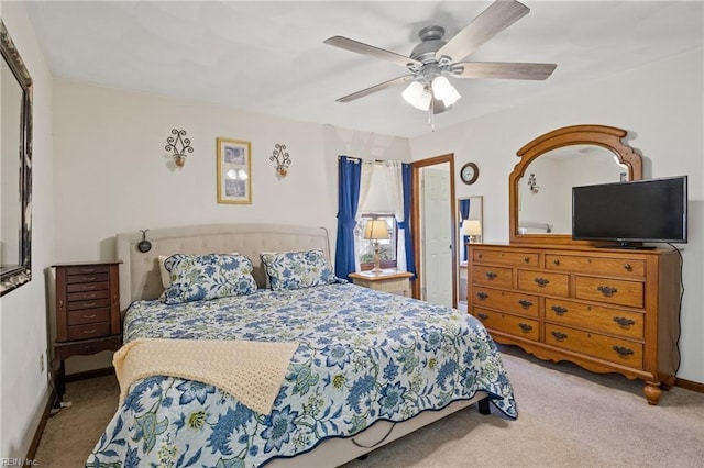
[[(702, 47), (704, 2), (537, 1), (468, 60), (554, 63), (546, 81), (454, 80), (436, 129)], [(406, 70), (324, 45), (343, 35), (402, 55), (427, 25), (446, 40), (491, 1), (30, 1), (52, 73), (287, 119), (413, 137), (430, 132), (403, 87), (336, 99)]]

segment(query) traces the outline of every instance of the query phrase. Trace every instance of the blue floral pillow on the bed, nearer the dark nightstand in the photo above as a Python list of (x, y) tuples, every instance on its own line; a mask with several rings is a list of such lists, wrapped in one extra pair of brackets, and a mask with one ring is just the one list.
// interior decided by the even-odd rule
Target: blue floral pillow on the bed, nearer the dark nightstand
[(256, 291), (252, 261), (243, 255), (172, 255), (164, 260), (172, 283), (164, 291), (164, 302), (178, 304), (209, 301)]

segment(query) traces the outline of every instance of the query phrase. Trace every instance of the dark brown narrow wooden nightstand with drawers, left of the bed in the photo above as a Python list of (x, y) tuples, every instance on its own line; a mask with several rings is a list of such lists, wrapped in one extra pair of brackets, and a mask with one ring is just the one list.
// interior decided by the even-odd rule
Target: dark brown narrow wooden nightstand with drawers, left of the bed
[(52, 371), (58, 401), (64, 398), (64, 360), (118, 350), (122, 345), (120, 280), (122, 261), (52, 265), (56, 269), (56, 341)]

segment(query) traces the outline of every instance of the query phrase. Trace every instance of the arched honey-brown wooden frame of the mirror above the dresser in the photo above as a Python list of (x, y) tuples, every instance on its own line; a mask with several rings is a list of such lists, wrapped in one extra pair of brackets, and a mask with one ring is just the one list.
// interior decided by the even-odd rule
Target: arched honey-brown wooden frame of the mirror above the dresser
[(508, 226), (512, 244), (582, 244), (593, 245), (591, 241), (573, 241), (566, 234), (519, 234), (518, 233), (518, 182), (528, 165), (544, 153), (571, 145), (596, 145), (614, 153), (620, 164), (627, 167), (628, 180), (642, 178), (642, 158), (632, 147), (622, 142), (628, 132), (606, 125), (572, 125), (553, 130), (538, 136), (516, 155), (520, 161), (508, 176)]

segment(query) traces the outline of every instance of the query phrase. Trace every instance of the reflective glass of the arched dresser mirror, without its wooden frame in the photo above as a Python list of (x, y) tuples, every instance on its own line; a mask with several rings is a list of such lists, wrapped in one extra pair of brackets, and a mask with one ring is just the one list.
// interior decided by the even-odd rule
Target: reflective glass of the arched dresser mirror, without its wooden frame
[(571, 234), (572, 187), (628, 180), (628, 167), (596, 145), (552, 149), (518, 179), (518, 234)]

